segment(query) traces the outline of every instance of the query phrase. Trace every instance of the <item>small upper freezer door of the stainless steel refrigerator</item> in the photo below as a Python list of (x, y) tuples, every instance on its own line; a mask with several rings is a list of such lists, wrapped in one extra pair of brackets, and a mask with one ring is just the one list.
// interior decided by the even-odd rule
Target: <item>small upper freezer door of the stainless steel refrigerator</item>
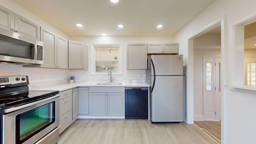
[[(174, 76), (183, 75), (183, 56), (182, 55), (152, 55), (152, 62), (156, 76)], [(153, 75), (153, 68), (151, 64), (151, 75)]]

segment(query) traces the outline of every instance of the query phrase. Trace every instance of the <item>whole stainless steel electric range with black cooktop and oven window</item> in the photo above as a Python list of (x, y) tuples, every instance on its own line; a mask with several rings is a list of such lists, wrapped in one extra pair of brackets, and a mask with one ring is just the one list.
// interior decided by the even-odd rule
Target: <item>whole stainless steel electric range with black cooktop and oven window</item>
[(28, 76), (0, 76), (1, 144), (56, 144), (59, 91), (32, 91)]

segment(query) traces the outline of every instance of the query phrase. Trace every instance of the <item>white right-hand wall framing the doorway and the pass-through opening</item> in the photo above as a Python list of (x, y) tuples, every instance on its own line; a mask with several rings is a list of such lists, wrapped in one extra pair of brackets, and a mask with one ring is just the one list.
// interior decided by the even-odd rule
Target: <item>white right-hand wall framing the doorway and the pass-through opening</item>
[[(193, 123), (193, 56), (188, 53), (188, 39), (196, 36), (216, 21), (222, 23), (222, 144), (256, 143), (256, 96), (230, 89), (234, 78), (234, 27), (232, 25), (256, 16), (255, 0), (216, 0), (190, 21), (175, 36), (188, 68), (187, 120)], [(192, 50), (193, 52), (193, 50)], [(192, 60), (192, 62), (191, 62)], [(192, 72), (191, 72), (192, 71)], [(223, 112), (223, 111), (222, 111)]]

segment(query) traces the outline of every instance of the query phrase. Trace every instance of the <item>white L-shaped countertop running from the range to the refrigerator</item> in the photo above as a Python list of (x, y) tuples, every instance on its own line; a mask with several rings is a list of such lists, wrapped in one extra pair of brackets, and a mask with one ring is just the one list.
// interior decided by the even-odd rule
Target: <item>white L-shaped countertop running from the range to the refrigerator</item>
[(44, 82), (44, 83), (37, 83), (37, 84), (30, 84), (29, 90), (59, 90), (64, 91), (71, 88), (76, 87), (91, 87), (91, 86), (122, 86), (122, 87), (149, 87), (150, 85), (146, 83), (122, 83), (122, 84), (97, 84), (95, 83), (87, 83), (87, 82)]

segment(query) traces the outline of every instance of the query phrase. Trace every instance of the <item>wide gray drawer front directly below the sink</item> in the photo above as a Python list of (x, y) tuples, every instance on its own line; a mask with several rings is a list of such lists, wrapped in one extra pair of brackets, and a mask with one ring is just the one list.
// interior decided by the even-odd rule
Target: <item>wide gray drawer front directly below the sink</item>
[(124, 92), (124, 87), (95, 86), (90, 87), (90, 92)]

